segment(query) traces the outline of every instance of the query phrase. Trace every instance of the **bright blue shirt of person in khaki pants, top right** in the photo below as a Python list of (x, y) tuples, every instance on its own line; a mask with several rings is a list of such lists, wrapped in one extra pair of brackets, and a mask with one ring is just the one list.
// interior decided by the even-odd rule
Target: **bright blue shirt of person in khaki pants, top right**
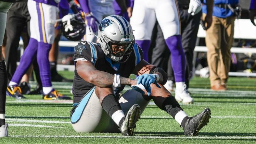
[[(238, 2), (239, 0), (214, 0), (213, 1), (215, 5), (219, 5), (219, 4), (235, 5), (235, 4), (238, 4)], [(204, 0), (203, 3), (206, 4), (206, 0)], [(207, 14), (206, 5), (202, 6), (202, 12)], [(218, 18), (226, 18), (226, 17), (232, 16), (233, 12), (228, 7), (225, 9), (225, 8), (220, 8), (218, 6), (213, 6), (212, 15)]]

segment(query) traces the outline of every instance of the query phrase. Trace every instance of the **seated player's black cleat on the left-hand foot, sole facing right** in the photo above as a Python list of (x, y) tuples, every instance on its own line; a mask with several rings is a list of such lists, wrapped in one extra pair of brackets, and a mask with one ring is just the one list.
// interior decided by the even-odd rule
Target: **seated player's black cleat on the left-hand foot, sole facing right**
[(134, 104), (127, 112), (125, 119), (119, 130), (123, 136), (132, 136), (134, 134), (134, 128), (136, 122), (140, 119), (141, 109), (138, 104)]

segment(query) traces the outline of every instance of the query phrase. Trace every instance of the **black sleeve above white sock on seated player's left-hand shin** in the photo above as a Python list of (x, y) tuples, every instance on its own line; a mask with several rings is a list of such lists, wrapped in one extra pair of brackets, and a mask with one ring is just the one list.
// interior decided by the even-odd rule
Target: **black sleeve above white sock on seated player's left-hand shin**
[(114, 94), (107, 95), (101, 102), (102, 108), (109, 114), (111, 117), (116, 111), (121, 110), (120, 103), (115, 98)]

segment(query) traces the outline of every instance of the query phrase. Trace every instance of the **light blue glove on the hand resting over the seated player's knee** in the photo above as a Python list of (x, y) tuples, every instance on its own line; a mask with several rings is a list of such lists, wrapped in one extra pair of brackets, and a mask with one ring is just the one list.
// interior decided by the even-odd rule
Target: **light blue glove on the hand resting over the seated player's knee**
[(151, 87), (150, 87), (151, 83), (154, 83), (154, 84), (156, 84), (156, 86), (158, 88), (161, 88), (158, 85), (155, 77), (156, 77), (156, 74), (143, 74), (143, 75), (138, 76), (136, 78), (137, 79), (137, 84), (142, 84), (146, 88), (148, 96), (151, 94)]

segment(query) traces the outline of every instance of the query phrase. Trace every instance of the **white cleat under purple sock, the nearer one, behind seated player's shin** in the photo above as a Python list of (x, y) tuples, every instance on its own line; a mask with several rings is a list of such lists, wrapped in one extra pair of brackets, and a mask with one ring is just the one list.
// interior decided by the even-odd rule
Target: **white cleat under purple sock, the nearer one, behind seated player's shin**
[(175, 99), (177, 102), (183, 102), (185, 104), (192, 104), (194, 102), (186, 89), (186, 84), (183, 86), (183, 89), (175, 90)]

